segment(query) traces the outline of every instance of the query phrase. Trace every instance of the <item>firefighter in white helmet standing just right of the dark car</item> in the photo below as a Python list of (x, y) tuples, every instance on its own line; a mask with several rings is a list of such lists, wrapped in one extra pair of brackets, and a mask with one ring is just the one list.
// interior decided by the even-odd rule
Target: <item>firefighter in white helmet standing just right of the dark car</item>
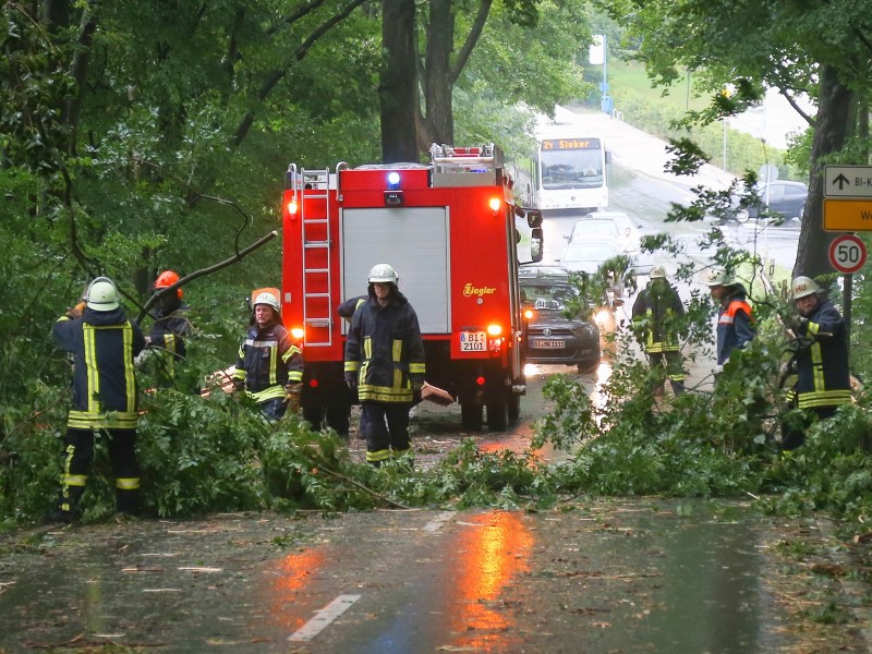
[[(685, 371), (678, 346), (678, 320), (685, 314), (685, 305), (666, 279), (666, 268), (654, 266), (650, 277), (633, 303), (633, 328), (651, 367), (666, 368), (673, 392), (678, 396), (685, 392)], [(654, 393), (663, 393), (663, 384)]]

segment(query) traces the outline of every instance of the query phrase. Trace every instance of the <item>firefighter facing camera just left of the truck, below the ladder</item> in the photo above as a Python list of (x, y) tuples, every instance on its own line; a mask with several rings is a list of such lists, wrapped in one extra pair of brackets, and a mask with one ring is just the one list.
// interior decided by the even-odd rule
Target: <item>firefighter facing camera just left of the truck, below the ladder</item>
[(278, 289), (259, 289), (252, 302), (249, 330), (239, 347), (233, 382), (269, 420), (300, 409), (303, 353), (281, 320)]

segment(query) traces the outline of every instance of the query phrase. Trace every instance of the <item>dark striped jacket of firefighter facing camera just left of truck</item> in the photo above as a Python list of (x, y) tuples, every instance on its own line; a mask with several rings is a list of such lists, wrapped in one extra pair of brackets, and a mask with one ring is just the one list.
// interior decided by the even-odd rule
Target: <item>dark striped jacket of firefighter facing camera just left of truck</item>
[(283, 398), (286, 385), (303, 382), (303, 353), (283, 325), (252, 325), (239, 347), (233, 378), (257, 402)]

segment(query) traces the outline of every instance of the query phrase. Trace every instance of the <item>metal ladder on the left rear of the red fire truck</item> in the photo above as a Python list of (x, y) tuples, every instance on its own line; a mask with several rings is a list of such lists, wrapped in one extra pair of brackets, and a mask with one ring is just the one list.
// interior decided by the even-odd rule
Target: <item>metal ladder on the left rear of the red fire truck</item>
[(301, 169), (300, 220), (303, 226), (303, 320), (306, 347), (332, 344), (334, 298), (330, 266), (329, 169)]

